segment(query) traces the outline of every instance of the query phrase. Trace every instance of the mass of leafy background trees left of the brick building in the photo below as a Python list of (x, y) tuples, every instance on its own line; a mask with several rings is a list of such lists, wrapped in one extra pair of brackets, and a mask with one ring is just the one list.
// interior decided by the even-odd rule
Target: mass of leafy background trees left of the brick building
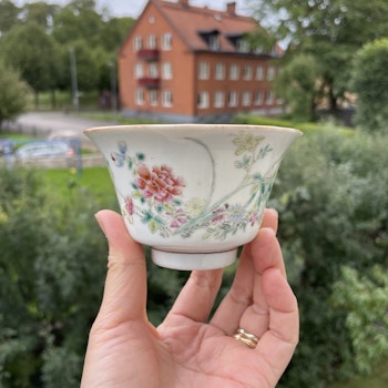
[(115, 65), (133, 22), (113, 18), (106, 10), (99, 12), (94, 0), (72, 0), (63, 7), (0, 1), (0, 59), (29, 83), (37, 105), (42, 91), (71, 90), (71, 49), (76, 51), (80, 92), (110, 90), (110, 63)]

